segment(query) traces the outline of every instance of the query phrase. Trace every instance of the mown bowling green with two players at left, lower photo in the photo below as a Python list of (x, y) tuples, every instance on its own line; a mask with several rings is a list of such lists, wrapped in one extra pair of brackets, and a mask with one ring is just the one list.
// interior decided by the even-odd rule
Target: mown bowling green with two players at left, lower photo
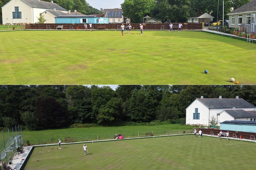
[[(254, 142), (194, 135), (36, 147), (25, 170), (255, 169)], [(54, 149), (52, 149), (54, 148)], [(49, 152), (48, 152), (49, 151)], [(44, 153), (43, 153), (44, 152)]]

